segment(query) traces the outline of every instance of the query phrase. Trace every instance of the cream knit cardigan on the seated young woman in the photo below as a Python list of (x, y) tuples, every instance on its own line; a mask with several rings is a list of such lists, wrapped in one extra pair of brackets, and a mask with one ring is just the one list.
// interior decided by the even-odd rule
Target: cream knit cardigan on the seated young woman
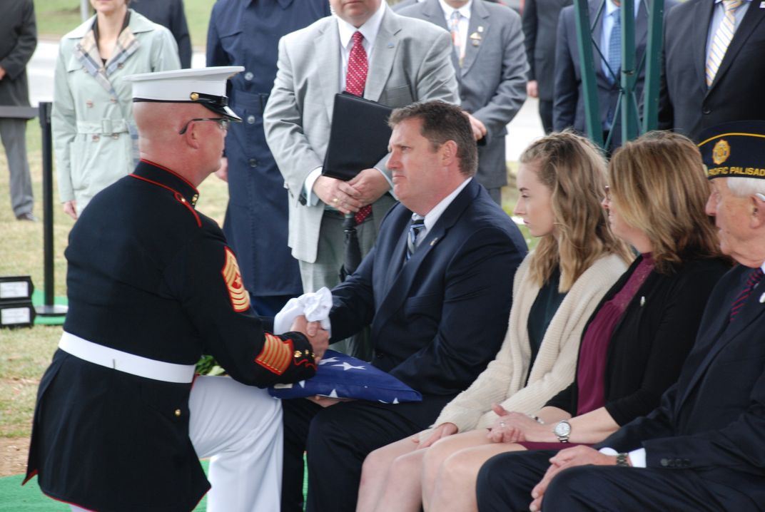
[[(513, 308), (500, 352), (467, 390), (441, 410), (433, 426), (454, 423), (459, 432), (486, 428), (496, 420), (493, 403), (506, 410), (535, 413), (574, 380), (584, 325), (627, 270), (627, 264), (618, 256), (608, 255), (581, 274), (552, 317), (524, 387), (531, 358), (527, 323), (539, 293), (539, 286), (529, 277), (531, 254), (522, 261), (513, 280)], [(431, 430), (420, 433), (420, 439), (427, 439)]]

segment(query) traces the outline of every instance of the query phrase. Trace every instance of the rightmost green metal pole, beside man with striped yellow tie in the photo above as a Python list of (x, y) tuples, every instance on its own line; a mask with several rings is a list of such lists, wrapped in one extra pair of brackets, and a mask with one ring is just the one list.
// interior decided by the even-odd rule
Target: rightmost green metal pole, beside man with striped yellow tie
[(659, 127), (659, 78), (664, 44), (664, 0), (649, 0), (646, 83), (643, 88), (643, 133)]

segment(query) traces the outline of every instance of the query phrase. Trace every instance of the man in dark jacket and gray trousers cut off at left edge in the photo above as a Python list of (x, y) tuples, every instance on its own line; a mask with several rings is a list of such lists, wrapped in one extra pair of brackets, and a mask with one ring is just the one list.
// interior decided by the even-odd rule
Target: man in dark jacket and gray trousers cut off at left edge
[[(0, 105), (29, 106), (27, 63), (37, 47), (32, 0), (0, 4)], [(34, 221), (26, 143), (27, 120), (0, 118), (0, 138), (11, 173), (11, 206), (18, 220)]]

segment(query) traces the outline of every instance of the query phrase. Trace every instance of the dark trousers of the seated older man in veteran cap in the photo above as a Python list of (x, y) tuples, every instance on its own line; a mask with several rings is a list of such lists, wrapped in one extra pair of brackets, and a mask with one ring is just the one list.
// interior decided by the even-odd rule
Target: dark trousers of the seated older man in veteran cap
[[(496, 455), (480, 469), (480, 512), (529, 510), (532, 488), (549, 468), (550, 451)], [(542, 510), (759, 510), (743, 493), (703, 480), (692, 469), (617, 468), (584, 465), (552, 479)]]

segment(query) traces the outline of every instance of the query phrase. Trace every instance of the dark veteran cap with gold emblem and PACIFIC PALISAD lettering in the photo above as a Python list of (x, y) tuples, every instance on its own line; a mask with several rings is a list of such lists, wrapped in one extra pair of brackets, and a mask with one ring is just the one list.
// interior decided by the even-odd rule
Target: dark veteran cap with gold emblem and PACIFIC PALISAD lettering
[(765, 121), (737, 121), (702, 132), (702, 159), (707, 176), (765, 179)]

